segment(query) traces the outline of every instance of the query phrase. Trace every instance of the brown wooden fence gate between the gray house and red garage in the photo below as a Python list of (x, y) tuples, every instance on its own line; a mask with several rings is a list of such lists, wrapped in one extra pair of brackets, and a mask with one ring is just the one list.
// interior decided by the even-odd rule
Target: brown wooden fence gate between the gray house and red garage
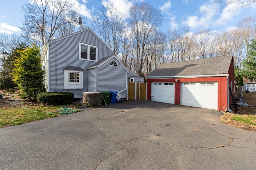
[(128, 82), (128, 100), (146, 100), (146, 83)]

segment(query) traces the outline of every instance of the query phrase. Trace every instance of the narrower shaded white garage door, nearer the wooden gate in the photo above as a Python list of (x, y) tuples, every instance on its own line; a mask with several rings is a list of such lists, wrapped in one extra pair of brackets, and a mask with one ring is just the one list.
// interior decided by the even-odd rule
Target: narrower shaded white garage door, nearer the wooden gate
[(174, 104), (174, 82), (152, 82), (151, 100)]

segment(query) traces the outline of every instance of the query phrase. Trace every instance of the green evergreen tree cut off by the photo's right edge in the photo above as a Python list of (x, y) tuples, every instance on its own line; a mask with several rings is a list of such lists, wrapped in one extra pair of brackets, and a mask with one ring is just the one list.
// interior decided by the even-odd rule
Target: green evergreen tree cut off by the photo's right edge
[(252, 40), (247, 51), (247, 58), (243, 61), (244, 70), (242, 74), (245, 78), (249, 78), (250, 81), (256, 79), (256, 40)]

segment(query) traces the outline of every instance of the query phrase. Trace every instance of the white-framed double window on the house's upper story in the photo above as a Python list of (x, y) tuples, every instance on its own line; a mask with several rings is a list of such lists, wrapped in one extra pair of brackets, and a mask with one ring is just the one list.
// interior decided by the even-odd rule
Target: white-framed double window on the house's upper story
[(98, 47), (79, 43), (79, 59), (81, 60), (98, 60)]

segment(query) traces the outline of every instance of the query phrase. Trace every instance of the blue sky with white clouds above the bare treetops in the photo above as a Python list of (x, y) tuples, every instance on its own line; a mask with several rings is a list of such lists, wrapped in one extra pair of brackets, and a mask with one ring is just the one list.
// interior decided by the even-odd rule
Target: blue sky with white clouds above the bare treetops
[[(30, 0), (1, 0), (0, 33), (16, 33), (22, 26), (23, 4)], [(216, 10), (216, 4), (211, 0), (70, 0), (78, 9), (85, 22), (100, 8), (113, 3), (117, 9), (129, 17), (129, 9), (135, 3), (148, 2), (154, 8), (161, 10), (164, 22), (162, 30), (178, 29), (188, 25), (192, 31), (200, 29), (227, 31), (236, 27), (238, 21), (250, 16), (256, 16), (256, 3), (237, 10), (236, 4), (221, 10)], [(88, 25), (86, 25), (88, 26)]]

